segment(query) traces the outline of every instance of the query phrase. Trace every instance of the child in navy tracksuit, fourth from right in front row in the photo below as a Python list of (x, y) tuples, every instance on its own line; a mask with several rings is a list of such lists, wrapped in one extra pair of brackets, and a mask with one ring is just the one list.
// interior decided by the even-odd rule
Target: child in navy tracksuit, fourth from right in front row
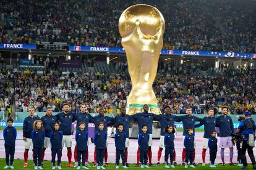
[(146, 124), (142, 125), (142, 132), (138, 137), (138, 144), (140, 148), (140, 163), (141, 168), (149, 168), (148, 163), (148, 142), (150, 134), (147, 133), (148, 127)]

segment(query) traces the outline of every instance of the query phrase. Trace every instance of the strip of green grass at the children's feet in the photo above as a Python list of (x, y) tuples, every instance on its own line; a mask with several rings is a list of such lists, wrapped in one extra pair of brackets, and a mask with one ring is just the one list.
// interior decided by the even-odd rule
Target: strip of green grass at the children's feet
[[(28, 161), (28, 168), (23, 168), (23, 160), (14, 160), (14, 168), (15, 169), (33, 169), (33, 161), (29, 160)], [(0, 159), (0, 169), (3, 169), (4, 168), (4, 164), (5, 164), (5, 160), (4, 159)], [(90, 163), (90, 165), (92, 166), (93, 164)], [(43, 169), (51, 169), (52, 166), (51, 166), (51, 162), (50, 161), (44, 161), (44, 167)], [(67, 162), (63, 162), (62, 163), (62, 169), (75, 169), (75, 168), (68, 168), (67, 167)], [(96, 168), (89, 168), (89, 169), (96, 169)], [(116, 169), (114, 168), (114, 164), (113, 163), (110, 163), (109, 164), (109, 167), (106, 168), (106, 170), (110, 170), (110, 169)], [(119, 166), (119, 169), (123, 169), (122, 166)], [(141, 168), (137, 168), (135, 167), (135, 164), (130, 164), (130, 167), (128, 169), (141, 169)], [(144, 168), (145, 169), (145, 168)], [(164, 168), (164, 165), (161, 164), (161, 166), (154, 166), (154, 167), (150, 167), (149, 169), (165, 169)], [(175, 169), (185, 169), (184, 166), (181, 166), (180, 164), (178, 166), (176, 166)], [(192, 169), (192, 168), (188, 168), (188, 169)], [(207, 164), (207, 166), (201, 166), (200, 164), (198, 164), (196, 166), (195, 169), (240, 169), (238, 166), (229, 166), (229, 165), (226, 165), (226, 166), (222, 166), (221, 164), (219, 164), (217, 166), (217, 168), (209, 168), (209, 165)], [(249, 164), (248, 166), (248, 169), (252, 169), (252, 165)]]

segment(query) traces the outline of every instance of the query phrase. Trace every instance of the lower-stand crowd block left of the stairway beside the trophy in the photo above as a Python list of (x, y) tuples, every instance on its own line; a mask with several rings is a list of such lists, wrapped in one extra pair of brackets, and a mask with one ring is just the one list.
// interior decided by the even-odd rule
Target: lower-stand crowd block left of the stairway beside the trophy
[[(61, 111), (62, 103), (69, 103), (72, 111), (79, 111), (81, 103), (86, 103), (87, 111), (98, 112), (101, 107), (106, 113), (113, 113), (110, 103), (97, 94), (94, 73), (62, 75), (58, 71), (45, 71), (38, 75), (34, 71), (1, 70), (0, 108), (6, 111), (15, 102), (16, 111), (28, 111), (35, 107), (36, 111), (45, 111), (48, 105), (53, 111)], [(13, 81), (8, 87), (4, 79)], [(15, 79), (15, 81), (14, 81)]]

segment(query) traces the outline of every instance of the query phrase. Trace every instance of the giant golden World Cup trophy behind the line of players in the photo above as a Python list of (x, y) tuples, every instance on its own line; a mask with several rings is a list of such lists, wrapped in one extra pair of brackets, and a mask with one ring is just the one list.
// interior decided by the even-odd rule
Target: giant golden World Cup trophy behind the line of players
[(152, 85), (163, 47), (164, 18), (158, 9), (145, 4), (130, 6), (119, 18), (122, 46), (126, 50), (132, 91), (127, 98), (127, 114), (143, 111), (160, 114)]

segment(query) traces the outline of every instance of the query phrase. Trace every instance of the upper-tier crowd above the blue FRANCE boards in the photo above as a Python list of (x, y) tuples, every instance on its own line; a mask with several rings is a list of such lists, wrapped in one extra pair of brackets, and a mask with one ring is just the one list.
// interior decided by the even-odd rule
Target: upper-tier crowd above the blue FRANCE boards
[(255, 2), (175, 0), (168, 6), (166, 2), (19, 0), (13, 6), (4, 0), (0, 13), (6, 25), (0, 26), (0, 42), (120, 47), (119, 16), (133, 4), (146, 3), (158, 4), (164, 16), (164, 49), (255, 53)]

